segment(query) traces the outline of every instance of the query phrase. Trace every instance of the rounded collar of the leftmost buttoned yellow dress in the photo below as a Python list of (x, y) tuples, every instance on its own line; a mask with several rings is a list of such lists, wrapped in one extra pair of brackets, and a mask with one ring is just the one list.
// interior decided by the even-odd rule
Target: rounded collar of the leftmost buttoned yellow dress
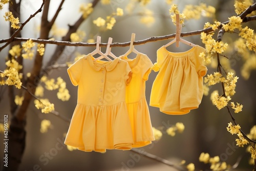
[(118, 57), (115, 58), (113, 61), (103, 61), (103, 60), (94, 61), (95, 58), (91, 54), (88, 54), (87, 56), (85, 56), (84, 59), (88, 60), (90, 67), (92, 67), (95, 71), (99, 71), (102, 68), (105, 68), (106, 71), (112, 71), (116, 67), (119, 61)]

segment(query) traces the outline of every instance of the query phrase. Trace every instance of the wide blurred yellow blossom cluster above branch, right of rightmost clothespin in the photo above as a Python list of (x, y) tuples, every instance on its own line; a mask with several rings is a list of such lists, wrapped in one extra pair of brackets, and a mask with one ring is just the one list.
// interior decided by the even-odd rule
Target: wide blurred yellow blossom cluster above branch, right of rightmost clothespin
[(199, 19), (201, 15), (212, 17), (215, 11), (216, 9), (214, 7), (201, 3), (200, 5), (185, 5), (182, 13), (186, 16), (186, 19)]

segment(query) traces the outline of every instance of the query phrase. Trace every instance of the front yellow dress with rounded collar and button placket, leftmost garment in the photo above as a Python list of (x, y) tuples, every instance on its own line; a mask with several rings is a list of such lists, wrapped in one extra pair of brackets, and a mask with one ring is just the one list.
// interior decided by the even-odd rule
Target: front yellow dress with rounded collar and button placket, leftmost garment
[(65, 144), (86, 152), (131, 149), (133, 135), (125, 103), (131, 68), (119, 58), (94, 59), (89, 54), (68, 68), (78, 93)]

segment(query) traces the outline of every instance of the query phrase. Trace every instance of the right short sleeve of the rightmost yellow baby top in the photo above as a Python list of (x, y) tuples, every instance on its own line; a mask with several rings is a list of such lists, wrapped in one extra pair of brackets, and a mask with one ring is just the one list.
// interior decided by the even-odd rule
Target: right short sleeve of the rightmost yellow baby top
[(202, 58), (199, 56), (199, 54), (201, 52), (205, 52), (206, 50), (203, 47), (198, 46), (198, 49), (195, 52), (195, 56), (193, 56), (194, 58), (194, 64), (197, 70), (197, 73), (199, 76), (203, 77), (206, 75), (207, 73), (207, 68), (203, 65), (203, 60)]

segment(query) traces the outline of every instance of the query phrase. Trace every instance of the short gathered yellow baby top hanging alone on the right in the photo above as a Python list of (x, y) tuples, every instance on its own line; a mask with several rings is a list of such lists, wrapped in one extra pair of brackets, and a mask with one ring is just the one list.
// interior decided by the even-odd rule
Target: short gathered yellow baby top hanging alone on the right
[(169, 52), (162, 46), (157, 50), (150, 105), (170, 115), (187, 114), (197, 109), (203, 97), (203, 76), (207, 68), (199, 57), (205, 49), (195, 46), (186, 52)]

